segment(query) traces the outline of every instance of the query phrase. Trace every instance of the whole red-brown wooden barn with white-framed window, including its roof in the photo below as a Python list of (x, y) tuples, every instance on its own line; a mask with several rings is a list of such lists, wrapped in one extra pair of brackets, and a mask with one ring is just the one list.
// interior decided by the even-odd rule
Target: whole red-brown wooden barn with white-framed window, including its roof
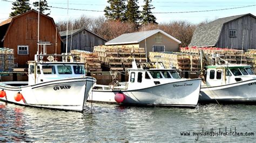
[[(19, 67), (28, 66), (37, 52), (38, 12), (30, 10), (0, 23), (0, 47), (14, 49), (15, 63)], [(50, 42), (47, 53), (60, 53), (60, 36), (53, 18), (40, 14), (39, 40)], [(57, 47), (56, 47), (57, 39)]]

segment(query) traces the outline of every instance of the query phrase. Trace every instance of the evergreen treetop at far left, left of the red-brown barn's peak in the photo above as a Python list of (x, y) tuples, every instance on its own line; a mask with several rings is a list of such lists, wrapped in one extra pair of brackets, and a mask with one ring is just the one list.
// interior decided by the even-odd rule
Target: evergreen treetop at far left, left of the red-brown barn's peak
[(17, 16), (21, 13), (27, 12), (31, 10), (31, 7), (29, 6), (29, 0), (19, 0), (12, 3), (12, 10), (13, 12), (10, 13), (10, 17)]

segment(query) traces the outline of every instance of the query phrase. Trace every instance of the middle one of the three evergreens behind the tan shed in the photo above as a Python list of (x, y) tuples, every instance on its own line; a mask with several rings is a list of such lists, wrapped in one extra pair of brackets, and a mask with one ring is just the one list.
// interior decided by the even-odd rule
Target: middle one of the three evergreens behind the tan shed
[(134, 0), (129, 0), (127, 2), (127, 9), (125, 11), (126, 21), (138, 25), (140, 20), (140, 11), (137, 2)]

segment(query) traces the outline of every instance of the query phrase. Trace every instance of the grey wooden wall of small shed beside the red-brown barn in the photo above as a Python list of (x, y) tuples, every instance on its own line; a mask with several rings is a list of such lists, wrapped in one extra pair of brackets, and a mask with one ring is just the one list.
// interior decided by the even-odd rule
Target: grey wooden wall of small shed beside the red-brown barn
[[(75, 33), (72, 36), (72, 49), (71, 50), (84, 50), (84, 51), (93, 51), (94, 46), (104, 45), (106, 41), (90, 31), (86, 30), (86, 35), (83, 35), (83, 31)], [(66, 39), (63, 39), (63, 50), (66, 52)], [(68, 52), (70, 52), (71, 45), (71, 36), (68, 37)]]

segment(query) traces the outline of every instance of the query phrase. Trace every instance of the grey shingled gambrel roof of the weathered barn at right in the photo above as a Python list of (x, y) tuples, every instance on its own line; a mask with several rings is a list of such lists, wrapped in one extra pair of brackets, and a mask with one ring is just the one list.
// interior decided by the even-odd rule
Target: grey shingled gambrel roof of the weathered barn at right
[(251, 13), (216, 19), (210, 23), (198, 26), (194, 31), (191, 43), (188, 46), (215, 46), (219, 40), (221, 29), (227, 22), (234, 21), (240, 17), (253, 16)]

